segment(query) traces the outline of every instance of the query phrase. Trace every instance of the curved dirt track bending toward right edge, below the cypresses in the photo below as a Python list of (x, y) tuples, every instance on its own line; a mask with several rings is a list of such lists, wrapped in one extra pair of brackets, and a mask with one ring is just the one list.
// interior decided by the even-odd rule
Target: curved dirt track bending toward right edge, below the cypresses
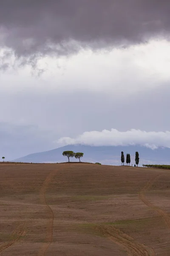
[(147, 192), (147, 190), (150, 189), (150, 187), (159, 178), (159, 176), (160, 175), (157, 175), (154, 179), (148, 181), (148, 183), (144, 186), (144, 188), (139, 192), (139, 198), (142, 200), (142, 202), (144, 202), (144, 204), (146, 204), (148, 207), (150, 207), (159, 215), (161, 215), (161, 217), (164, 219), (165, 223), (167, 224), (167, 227), (170, 229), (170, 218), (167, 212), (165, 212), (164, 210), (152, 204), (150, 201), (147, 200), (147, 198), (144, 195), (144, 192)]

